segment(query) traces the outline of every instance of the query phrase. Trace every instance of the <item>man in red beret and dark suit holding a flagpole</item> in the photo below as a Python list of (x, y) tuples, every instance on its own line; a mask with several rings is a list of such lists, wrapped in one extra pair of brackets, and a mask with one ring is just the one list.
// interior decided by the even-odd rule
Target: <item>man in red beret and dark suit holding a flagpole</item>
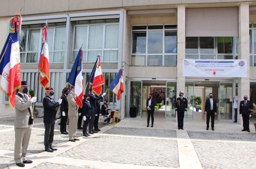
[(57, 111), (57, 107), (59, 107), (62, 103), (62, 99), (59, 99), (58, 102), (55, 102), (52, 98), (54, 92), (52, 87), (45, 88), (46, 96), (43, 99), (44, 106), (44, 147), (45, 151), (53, 152), (53, 150), (57, 150), (57, 148), (53, 148), (53, 136), (54, 136), (54, 125), (55, 125), (55, 112)]

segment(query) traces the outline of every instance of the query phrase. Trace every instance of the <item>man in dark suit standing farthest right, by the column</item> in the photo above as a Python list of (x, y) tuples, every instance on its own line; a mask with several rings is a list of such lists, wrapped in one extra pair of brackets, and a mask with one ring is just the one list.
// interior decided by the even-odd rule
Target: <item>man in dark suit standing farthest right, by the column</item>
[(249, 119), (250, 110), (253, 109), (252, 102), (248, 100), (248, 96), (243, 96), (243, 100), (240, 102), (239, 114), (242, 114), (243, 118), (243, 129), (242, 131), (250, 132), (249, 129)]

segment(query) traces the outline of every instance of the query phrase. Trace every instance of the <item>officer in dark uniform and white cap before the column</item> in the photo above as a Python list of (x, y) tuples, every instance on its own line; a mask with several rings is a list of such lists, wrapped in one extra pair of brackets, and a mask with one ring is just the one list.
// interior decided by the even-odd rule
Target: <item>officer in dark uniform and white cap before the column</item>
[(179, 92), (179, 97), (176, 99), (175, 103), (175, 111), (178, 117), (178, 129), (183, 130), (183, 120), (184, 120), (184, 113), (187, 112), (188, 108), (188, 100), (183, 97), (184, 92)]

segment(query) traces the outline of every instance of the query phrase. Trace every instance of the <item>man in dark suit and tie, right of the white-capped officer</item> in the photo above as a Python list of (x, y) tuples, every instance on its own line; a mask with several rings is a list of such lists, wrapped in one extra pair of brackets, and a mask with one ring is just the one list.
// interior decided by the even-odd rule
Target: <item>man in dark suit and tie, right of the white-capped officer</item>
[(214, 117), (217, 114), (217, 102), (213, 99), (212, 93), (209, 94), (209, 99), (204, 105), (204, 113), (206, 114), (206, 130), (209, 130), (209, 122), (211, 117), (211, 127), (214, 131)]

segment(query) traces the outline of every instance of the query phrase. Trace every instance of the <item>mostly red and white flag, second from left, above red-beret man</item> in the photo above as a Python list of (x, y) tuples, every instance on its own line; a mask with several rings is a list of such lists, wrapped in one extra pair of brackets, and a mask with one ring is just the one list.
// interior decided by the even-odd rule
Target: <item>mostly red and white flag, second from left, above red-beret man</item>
[(49, 49), (47, 43), (47, 26), (43, 28), (41, 56), (39, 60), (40, 84), (43, 88), (49, 83)]

